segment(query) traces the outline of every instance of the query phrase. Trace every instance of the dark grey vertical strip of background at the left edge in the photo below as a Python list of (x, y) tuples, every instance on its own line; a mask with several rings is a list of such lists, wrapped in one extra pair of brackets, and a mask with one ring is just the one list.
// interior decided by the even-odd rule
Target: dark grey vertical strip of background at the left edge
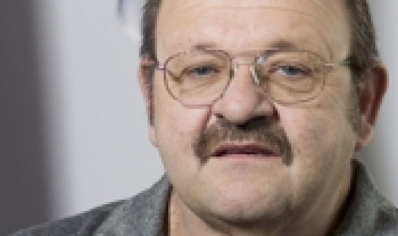
[(0, 1), (0, 235), (49, 217), (31, 3)]

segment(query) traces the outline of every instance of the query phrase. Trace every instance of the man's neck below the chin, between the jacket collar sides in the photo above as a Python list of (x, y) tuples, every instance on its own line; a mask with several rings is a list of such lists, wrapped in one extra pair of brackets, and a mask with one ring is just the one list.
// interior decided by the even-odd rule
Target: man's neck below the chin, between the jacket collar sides
[[(172, 190), (168, 210), (169, 236), (318, 236), (332, 235), (337, 228), (348, 201), (352, 171), (334, 188), (330, 186), (310, 207), (280, 221), (236, 224), (222, 220), (208, 220), (192, 212)], [(333, 196), (333, 197), (330, 197)]]

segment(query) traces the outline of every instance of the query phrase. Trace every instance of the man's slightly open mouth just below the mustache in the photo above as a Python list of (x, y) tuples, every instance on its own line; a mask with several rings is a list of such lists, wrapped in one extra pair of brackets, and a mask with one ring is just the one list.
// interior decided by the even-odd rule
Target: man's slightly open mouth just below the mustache
[(211, 158), (260, 158), (268, 159), (279, 155), (268, 147), (257, 144), (248, 145), (220, 145), (210, 155)]

